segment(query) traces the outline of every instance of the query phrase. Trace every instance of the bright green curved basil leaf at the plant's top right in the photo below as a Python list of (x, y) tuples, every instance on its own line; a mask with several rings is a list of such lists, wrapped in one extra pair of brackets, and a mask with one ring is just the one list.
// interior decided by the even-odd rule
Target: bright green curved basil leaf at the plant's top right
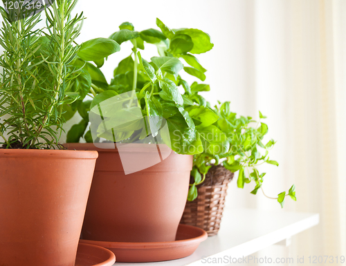
[(214, 44), (212, 44), (212, 42), (210, 41), (210, 36), (202, 30), (197, 30), (194, 28), (176, 30), (175, 34), (189, 35), (192, 38), (192, 41), (194, 43), (194, 48), (190, 50), (190, 53), (192, 54), (206, 53), (214, 47)]

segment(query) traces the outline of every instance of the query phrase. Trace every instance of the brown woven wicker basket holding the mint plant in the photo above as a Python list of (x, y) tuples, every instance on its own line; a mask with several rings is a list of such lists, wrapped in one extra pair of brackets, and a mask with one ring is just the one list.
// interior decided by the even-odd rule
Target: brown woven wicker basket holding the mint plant
[(187, 202), (181, 223), (204, 229), (208, 236), (215, 236), (220, 229), (222, 212), (224, 211), (228, 183), (198, 188), (198, 197)]

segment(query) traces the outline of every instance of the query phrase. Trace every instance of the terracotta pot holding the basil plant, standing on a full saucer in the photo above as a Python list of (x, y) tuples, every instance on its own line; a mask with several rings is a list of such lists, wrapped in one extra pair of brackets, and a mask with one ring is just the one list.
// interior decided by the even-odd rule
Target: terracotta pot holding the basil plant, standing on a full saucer
[(125, 175), (122, 164), (129, 171), (131, 167), (140, 169), (156, 161), (157, 146), (127, 144), (121, 148), (121, 160), (119, 146), (118, 149), (100, 149), (93, 144), (67, 146), (99, 153), (86, 207), (83, 239), (131, 243), (175, 240), (188, 196), (192, 155), (176, 154), (160, 144), (162, 157), (167, 156), (165, 160)]

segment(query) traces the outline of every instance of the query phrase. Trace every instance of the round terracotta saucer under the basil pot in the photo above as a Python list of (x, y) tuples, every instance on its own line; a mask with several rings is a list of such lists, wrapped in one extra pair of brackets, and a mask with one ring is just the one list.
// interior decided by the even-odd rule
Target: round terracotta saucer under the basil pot
[(152, 263), (190, 256), (199, 243), (207, 238), (208, 234), (203, 229), (179, 225), (176, 240), (172, 242), (120, 243), (80, 240), (80, 243), (98, 245), (113, 251), (119, 263)]

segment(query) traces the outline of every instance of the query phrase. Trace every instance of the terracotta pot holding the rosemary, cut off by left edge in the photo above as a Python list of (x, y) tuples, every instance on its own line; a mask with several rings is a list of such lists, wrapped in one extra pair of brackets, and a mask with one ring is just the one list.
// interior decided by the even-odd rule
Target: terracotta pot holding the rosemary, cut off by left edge
[(97, 157), (0, 149), (0, 265), (74, 265)]

